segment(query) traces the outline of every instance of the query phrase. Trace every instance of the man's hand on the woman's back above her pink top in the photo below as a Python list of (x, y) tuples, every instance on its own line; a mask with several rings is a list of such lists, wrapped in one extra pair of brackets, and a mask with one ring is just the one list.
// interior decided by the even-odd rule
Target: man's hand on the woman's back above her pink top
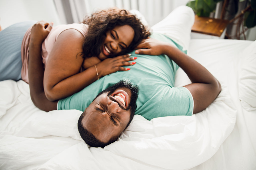
[(39, 21), (31, 29), (30, 41), (35, 44), (42, 44), (52, 29), (53, 22)]

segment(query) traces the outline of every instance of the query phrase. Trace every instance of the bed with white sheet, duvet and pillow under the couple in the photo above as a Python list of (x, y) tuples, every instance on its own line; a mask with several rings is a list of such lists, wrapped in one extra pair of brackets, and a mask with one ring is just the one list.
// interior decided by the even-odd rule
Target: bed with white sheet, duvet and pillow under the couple
[[(188, 55), (222, 91), (192, 116), (135, 115), (105, 148), (86, 145), (82, 111), (36, 108), (29, 85), (0, 82), (0, 169), (256, 169), (256, 41), (191, 39)], [(183, 70), (175, 86), (189, 83)]]

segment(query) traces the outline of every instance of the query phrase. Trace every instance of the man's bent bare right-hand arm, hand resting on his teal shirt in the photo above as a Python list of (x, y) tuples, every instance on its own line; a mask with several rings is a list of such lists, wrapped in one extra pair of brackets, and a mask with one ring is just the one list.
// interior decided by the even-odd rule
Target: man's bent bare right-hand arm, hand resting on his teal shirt
[(138, 50), (135, 51), (136, 54), (166, 54), (184, 70), (192, 82), (184, 87), (186, 87), (193, 96), (193, 113), (198, 113), (207, 108), (219, 95), (221, 91), (219, 81), (205, 67), (173, 45), (148, 38), (143, 40), (142, 43), (138, 45), (137, 49)]

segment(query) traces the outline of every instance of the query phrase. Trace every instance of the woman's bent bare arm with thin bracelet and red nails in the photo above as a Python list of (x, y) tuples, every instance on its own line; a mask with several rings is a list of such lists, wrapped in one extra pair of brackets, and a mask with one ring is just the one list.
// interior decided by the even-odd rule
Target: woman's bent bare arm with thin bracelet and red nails
[[(63, 31), (57, 38), (45, 67), (44, 89), (46, 97), (51, 100), (70, 96), (98, 79), (93, 66), (80, 72), (84, 65), (82, 57), (83, 35), (74, 29)], [(108, 58), (95, 64), (99, 77), (116, 71), (127, 71), (121, 66), (131, 66), (134, 60), (128, 55)]]

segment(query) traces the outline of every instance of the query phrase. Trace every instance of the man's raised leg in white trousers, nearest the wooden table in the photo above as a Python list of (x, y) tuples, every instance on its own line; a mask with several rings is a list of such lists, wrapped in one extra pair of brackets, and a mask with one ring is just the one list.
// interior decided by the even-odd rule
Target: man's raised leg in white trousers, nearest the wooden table
[(183, 50), (187, 50), (194, 21), (194, 11), (188, 6), (179, 6), (166, 18), (155, 24), (152, 27), (152, 31), (165, 34), (183, 46)]

